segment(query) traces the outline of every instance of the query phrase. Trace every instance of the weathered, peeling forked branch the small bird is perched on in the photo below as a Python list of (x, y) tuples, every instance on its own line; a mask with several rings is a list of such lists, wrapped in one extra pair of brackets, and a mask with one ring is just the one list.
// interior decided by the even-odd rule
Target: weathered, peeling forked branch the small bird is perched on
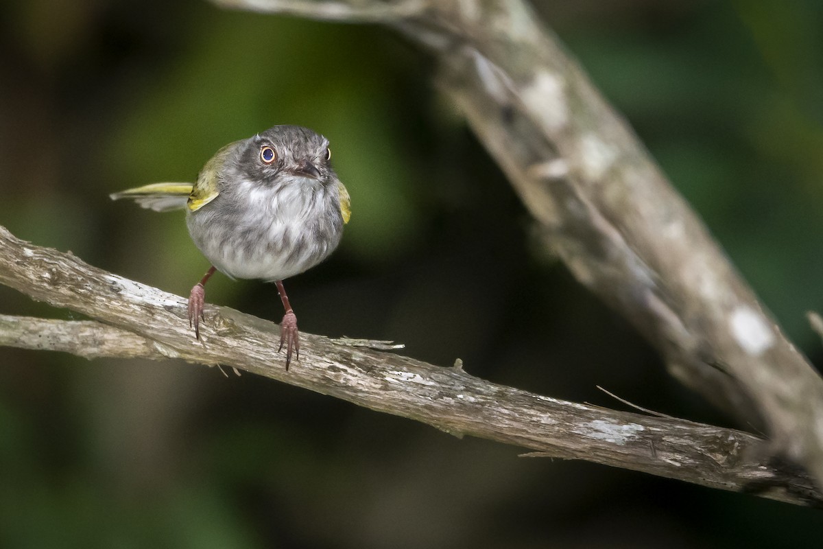
[[(272, 345), (277, 326), (207, 306), (202, 342), (184, 298), (118, 277), (72, 254), (39, 248), (0, 227), (0, 283), (91, 319), (0, 316), (0, 345), (86, 357), (179, 357), (279, 379), (425, 422), (454, 435), (515, 444), (540, 456), (584, 459), (799, 505), (823, 505), (801, 470), (770, 460), (764, 441), (738, 430), (616, 412), (492, 384), (369, 348), (370, 342), (302, 334), (300, 362), (286, 372)], [(384, 342), (376, 342), (378, 346)]]

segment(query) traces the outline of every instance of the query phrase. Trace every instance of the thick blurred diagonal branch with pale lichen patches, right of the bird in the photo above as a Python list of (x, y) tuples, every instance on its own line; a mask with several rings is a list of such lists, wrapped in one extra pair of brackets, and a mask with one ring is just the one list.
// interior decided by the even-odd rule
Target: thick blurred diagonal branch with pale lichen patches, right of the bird
[[(628, 125), (523, 0), (214, 0), (379, 22), (439, 61), (546, 245), (621, 311), (673, 375), (823, 484), (823, 379), (658, 170)], [(719, 182), (718, 182), (719, 183)]]

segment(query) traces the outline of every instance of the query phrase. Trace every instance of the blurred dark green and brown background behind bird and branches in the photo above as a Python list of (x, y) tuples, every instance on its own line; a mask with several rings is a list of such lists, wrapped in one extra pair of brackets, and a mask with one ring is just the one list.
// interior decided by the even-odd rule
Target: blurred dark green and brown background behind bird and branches
[[(574, 4), (574, 7), (567, 6)], [(816, 364), (823, 2), (537, 2)], [(192, 180), (274, 123), (332, 142), (352, 218), (287, 281), (300, 327), (575, 401), (738, 426), (665, 374), (552, 258), (397, 35), (206, 2), (0, 7), (0, 224), (187, 295), (182, 214), (115, 190)], [(279, 320), (272, 285), (207, 300)], [(0, 288), (0, 313), (81, 318)], [(272, 335), (272, 345), (276, 337)], [(299, 364), (295, 367), (300, 367)], [(2, 547), (815, 547), (820, 511), (605, 468), (178, 362), (0, 349)]]

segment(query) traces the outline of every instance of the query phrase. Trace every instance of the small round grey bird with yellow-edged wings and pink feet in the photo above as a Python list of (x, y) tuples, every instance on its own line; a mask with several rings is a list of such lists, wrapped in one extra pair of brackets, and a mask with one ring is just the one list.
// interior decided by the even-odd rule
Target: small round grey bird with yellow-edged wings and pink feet
[(112, 193), (156, 212), (185, 210), (194, 244), (211, 263), (188, 296), (188, 324), (201, 340), (206, 282), (273, 281), (285, 310), (280, 347), (286, 371), (300, 360), (300, 331), (283, 280), (323, 262), (342, 238), (351, 198), (332, 170), (328, 139), (309, 128), (277, 125), (216, 152), (197, 182), (155, 183)]

